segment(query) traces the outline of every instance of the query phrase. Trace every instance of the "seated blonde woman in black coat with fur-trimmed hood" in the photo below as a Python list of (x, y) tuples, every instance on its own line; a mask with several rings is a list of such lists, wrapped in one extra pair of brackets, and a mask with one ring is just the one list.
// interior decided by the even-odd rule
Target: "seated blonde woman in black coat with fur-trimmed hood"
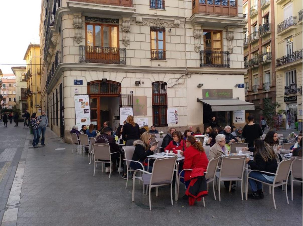
[[(154, 154), (154, 150), (156, 150), (157, 146), (155, 145), (151, 147), (150, 142), (151, 135), (148, 132), (144, 132), (139, 140), (134, 141), (135, 152), (132, 157), (133, 161), (139, 161), (144, 165), (147, 156)], [(134, 170), (142, 168), (142, 166), (136, 162), (131, 162), (129, 166), (132, 167)], [(145, 170), (151, 172), (152, 167), (149, 166), (149, 168), (147, 169), (147, 166), (145, 166)]]

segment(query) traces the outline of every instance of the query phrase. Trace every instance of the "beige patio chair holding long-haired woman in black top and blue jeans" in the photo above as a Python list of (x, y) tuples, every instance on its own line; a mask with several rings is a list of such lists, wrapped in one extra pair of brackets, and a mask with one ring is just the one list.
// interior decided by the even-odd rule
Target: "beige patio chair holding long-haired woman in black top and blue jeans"
[[(275, 202), (275, 187), (279, 187), (281, 185), (287, 185), (287, 182), (288, 182), (288, 175), (289, 175), (289, 172), (291, 170), (291, 165), (292, 165), (292, 162), (294, 161), (295, 159), (294, 158), (289, 158), (287, 160), (283, 160), (281, 161), (279, 164), (278, 164), (278, 168), (277, 168), (277, 171), (275, 174), (273, 173), (269, 173), (269, 172), (265, 172), (265, 171), (260, 171), (260, 170), (251, 170), (250, 172), (248, 172), (247, 174), (247, 178), (246, 178), (246, 200), (247, 200), (247, 192), (248, 192), (248, 179), (253, 179), (253, 180), (256, 180), (256, 181), (259, 181), (263, 184), (267, 184), (269, 186), (272, 187), (272, 200), (274, 201), (274, 207), (275, 209), (277, 209), (276, 207), (276, 202)], [(267, 173), (267, 174), (272, 174), (272, 175), (275, 175), (275, 179), (273, 181), (272, 184), (270, 183), (266, 183), (264, 181), (261, 181), (261, 180), (257, 180), (253, 177), (249, 177), (249, 174), (253, 171), (257, 171), (257, 172), (262, 172), (262, 173)], [(289, 204), (288, 202), (288, 196), (287, 196), (287, 186), (285, 186), (285, 195), (286, 195), (286, 200), (287, 200), (287, 204)]]

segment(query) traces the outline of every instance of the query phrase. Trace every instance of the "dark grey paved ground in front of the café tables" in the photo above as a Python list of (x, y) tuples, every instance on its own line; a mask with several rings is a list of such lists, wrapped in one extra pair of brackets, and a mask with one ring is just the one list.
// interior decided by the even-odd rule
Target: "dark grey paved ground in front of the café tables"
[[(286, 203), (285, 192), (275, 189), (277, 210), (268, 186), (263, 200), (241, 201), (240, 186), (234, 193), (221, 189), (221, 201), (215, 201), (210, 189), (202, 202), (188, 206), (179, 200), (171, 206), (169, 188), (152, 193), (152, 211), (142, 185), (136, 184), (132, 202), (131, 184), (117, 172), (96, 170), (85, 156), (72, 152), (72, 145), (61, 141), (49, 129), (46, 146), (29, 146), (25, 162), (17, 225), (302, 225), (302, 195), (295, 184), (294, 201)], [(27, 139), (32, 139), (32, 135)], [(64, 150), (55, 150), (64, 148)], [(184, 194), (183, 187), (180, 187)]]

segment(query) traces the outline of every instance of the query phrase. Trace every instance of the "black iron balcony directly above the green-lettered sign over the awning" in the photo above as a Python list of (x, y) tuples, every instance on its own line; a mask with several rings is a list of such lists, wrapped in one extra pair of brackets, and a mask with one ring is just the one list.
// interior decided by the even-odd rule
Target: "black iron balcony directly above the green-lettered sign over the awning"
[(228, 51), (200, 51), (200, 67), (226, 67), (229, 68)]

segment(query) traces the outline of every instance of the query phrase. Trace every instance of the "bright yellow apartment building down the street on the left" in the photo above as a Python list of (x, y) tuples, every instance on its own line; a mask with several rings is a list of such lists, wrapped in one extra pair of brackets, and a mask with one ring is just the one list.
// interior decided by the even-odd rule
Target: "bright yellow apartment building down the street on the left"
[(40, 44), (29, 44), (24, 55), (26, 60), (27, 106), (28, 112), (41, 115), (41, 69)]

